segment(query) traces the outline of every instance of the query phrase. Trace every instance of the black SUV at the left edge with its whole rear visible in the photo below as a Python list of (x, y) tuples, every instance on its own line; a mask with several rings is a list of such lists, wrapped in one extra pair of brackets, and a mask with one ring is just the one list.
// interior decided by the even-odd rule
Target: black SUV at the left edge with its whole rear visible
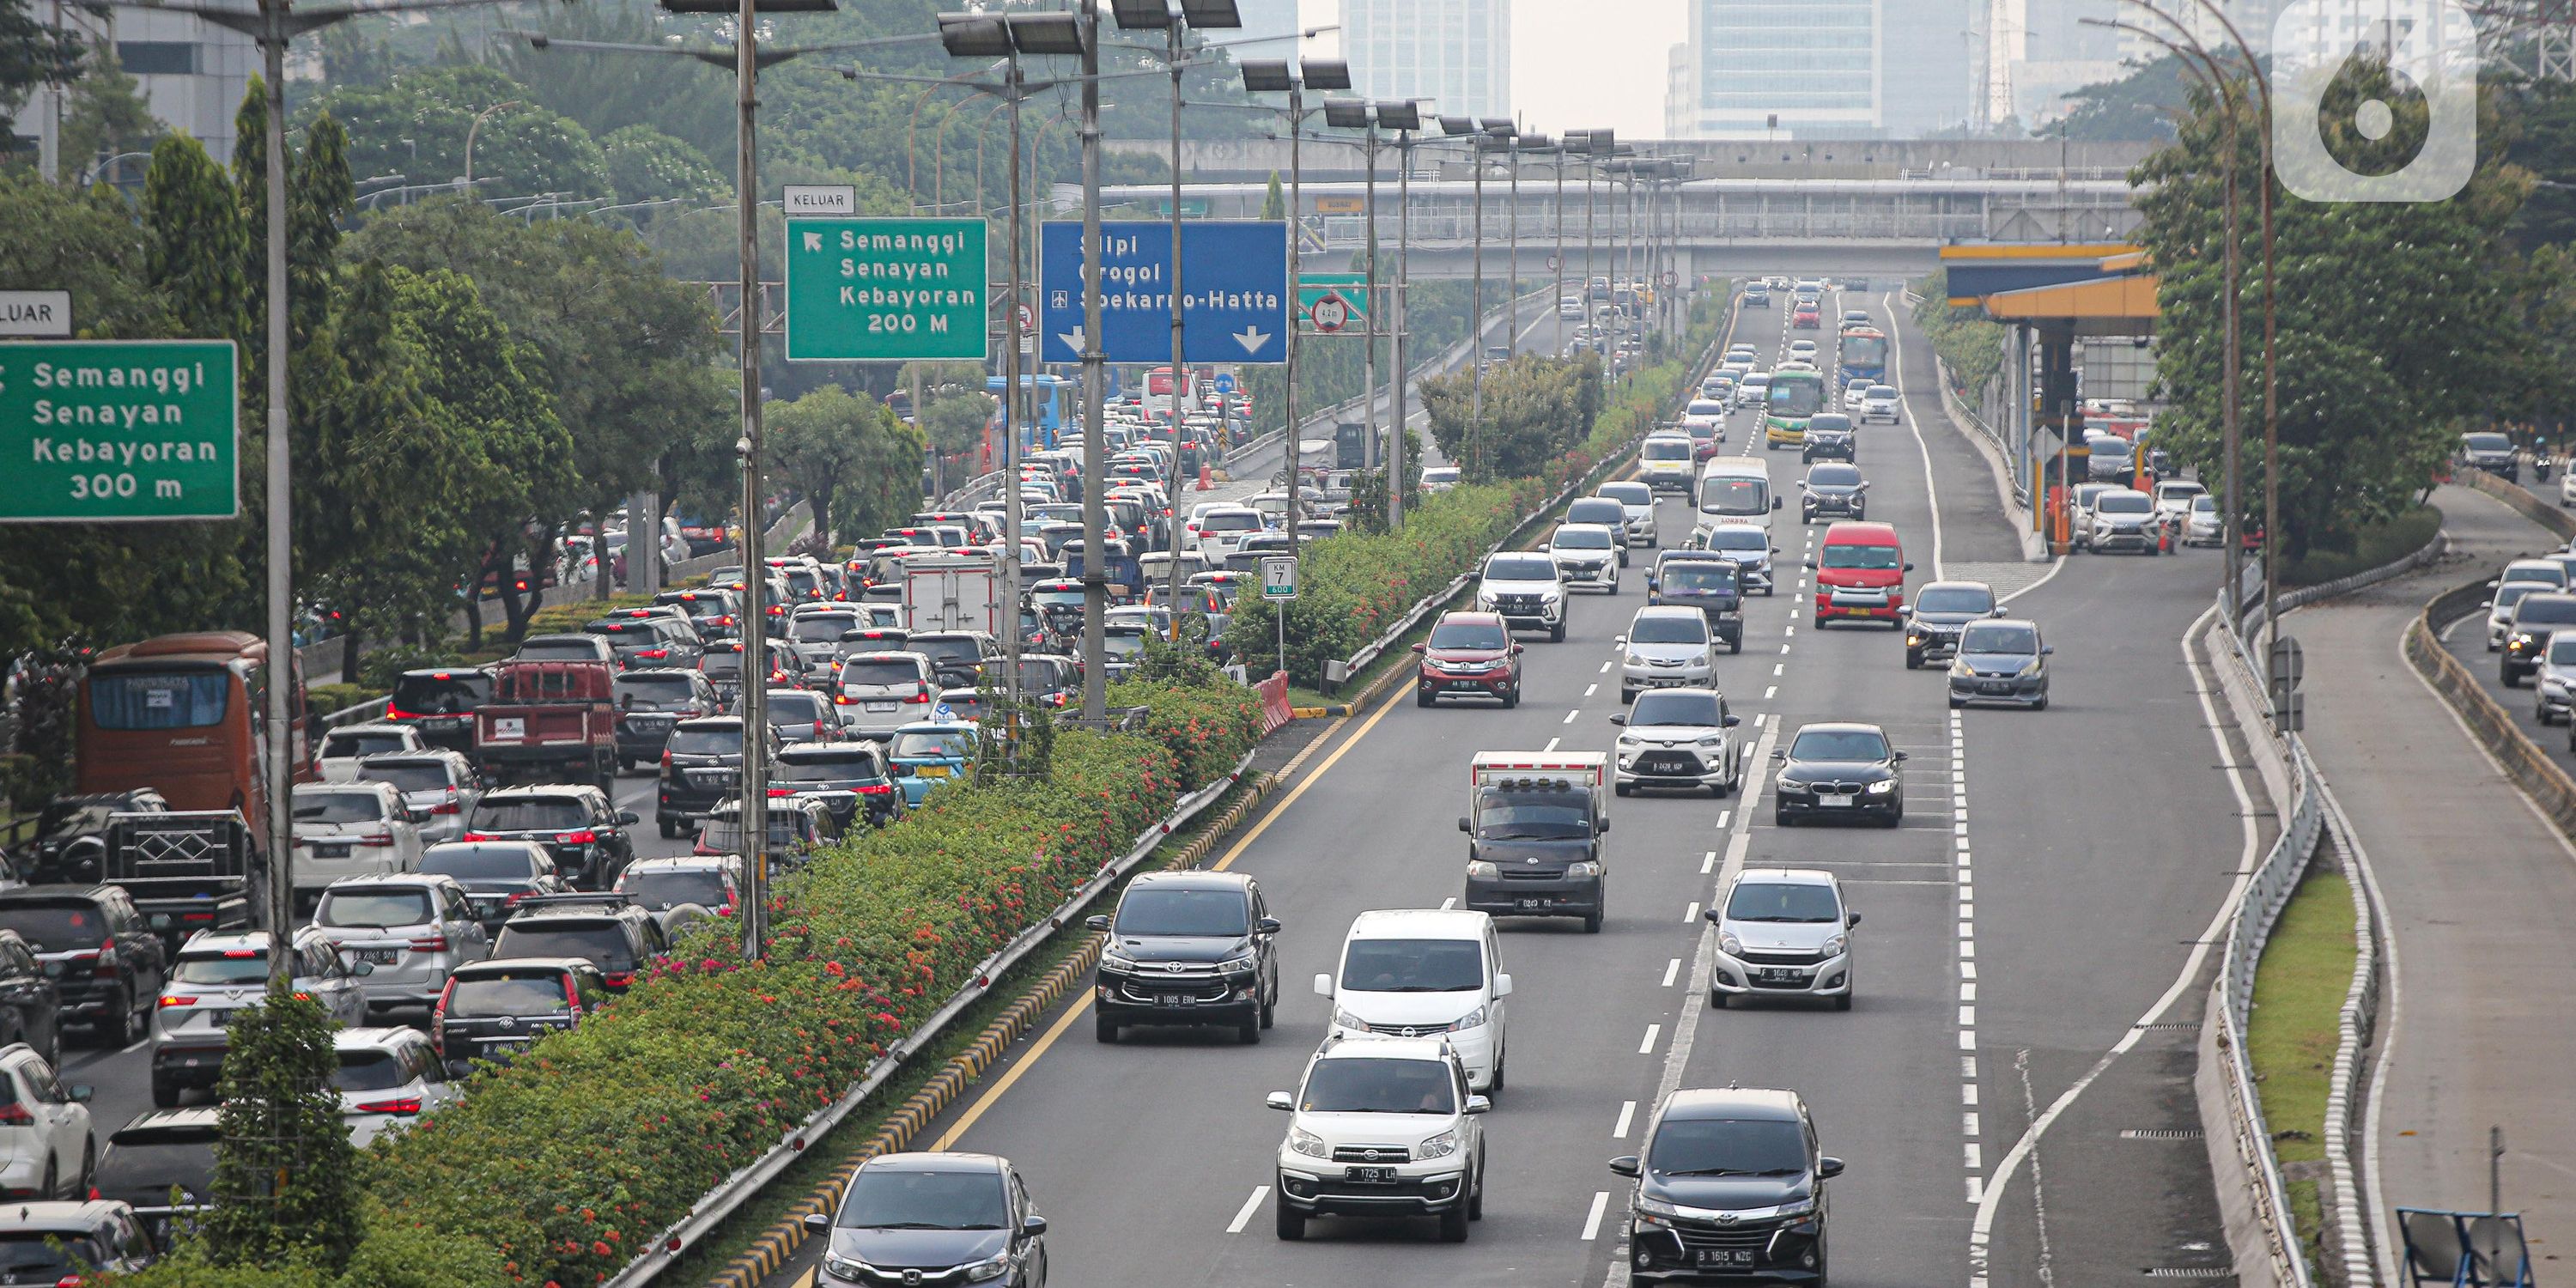
[(0, 891), (0, 927), (44, 963), (64, 1023), (88, 1025), (100, 1046), (131, 1046), (144, 1036), (170, 981), (170, 948), (124, 886)]

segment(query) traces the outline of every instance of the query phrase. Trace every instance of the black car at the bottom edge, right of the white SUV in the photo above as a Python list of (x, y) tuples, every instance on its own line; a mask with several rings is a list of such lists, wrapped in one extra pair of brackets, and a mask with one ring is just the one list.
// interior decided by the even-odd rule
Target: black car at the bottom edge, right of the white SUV
[(1824, 1283), (1826, 1180), (1798, 1092), (1680, 1090), (1654, 1113), (1646, 1154), (1610, 1159), (1636, 1177), (1631, 1278)]

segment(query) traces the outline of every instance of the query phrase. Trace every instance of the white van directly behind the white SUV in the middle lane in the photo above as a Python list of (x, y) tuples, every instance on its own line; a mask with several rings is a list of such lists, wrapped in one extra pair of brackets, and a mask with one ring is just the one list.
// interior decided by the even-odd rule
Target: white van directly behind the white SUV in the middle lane
[(1332, 1038), (1368, 1033), (1448, 1038), (1466, 1064), (1466, 1084), (1502, 1090), (1502, 974), (1494, 917), (1468, 909), (1363, 912), (1342, 938), (1337, 971), (1314, 976), (1332, 999)]

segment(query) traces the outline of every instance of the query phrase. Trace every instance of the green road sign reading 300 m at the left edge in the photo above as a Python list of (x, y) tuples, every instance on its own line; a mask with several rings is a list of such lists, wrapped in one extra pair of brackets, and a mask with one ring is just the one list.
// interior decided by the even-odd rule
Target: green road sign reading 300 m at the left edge
[(240, 518), (232, 340), (0, 343), (0, 523)]

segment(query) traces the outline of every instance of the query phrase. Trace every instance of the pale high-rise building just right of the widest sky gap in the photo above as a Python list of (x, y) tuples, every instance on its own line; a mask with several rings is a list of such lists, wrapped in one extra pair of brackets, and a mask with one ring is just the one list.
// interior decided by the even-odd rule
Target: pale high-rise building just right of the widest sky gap
[(1886, 129), (1880, 3), (1692, 0), (1687, 134), (1698, 139), (1880, 134)]

